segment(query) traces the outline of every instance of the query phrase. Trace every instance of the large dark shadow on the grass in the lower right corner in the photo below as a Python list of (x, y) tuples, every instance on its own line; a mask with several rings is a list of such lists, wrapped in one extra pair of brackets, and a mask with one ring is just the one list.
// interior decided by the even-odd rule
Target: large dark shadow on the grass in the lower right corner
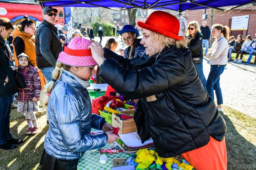
[[(227, 169), (255, 170), (256, 147), (243, 137), (252, 136), (252, 138), (255, 139), (255, 135), (239, 125), (236, 125), (235, 127), (227, 115), (224, 115), (223, 112), (220, 113), (227, 125), (227, 133), (225, 136), (227, 147)], [(242, 133), (243, 136), (238, 131)]]

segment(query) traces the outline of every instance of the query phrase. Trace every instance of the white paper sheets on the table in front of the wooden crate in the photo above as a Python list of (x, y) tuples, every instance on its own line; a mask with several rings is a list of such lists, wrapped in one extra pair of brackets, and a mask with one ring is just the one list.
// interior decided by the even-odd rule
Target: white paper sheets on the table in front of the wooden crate
[(120, 139), (129, 147), (141, 147), (150, 143), (153, 143), (153, 140), (150, 138), (147, 141), (145, 141), (143, 144), (141, 143), (141, 140), (137, 138), (137, 132), (130, 132), (125, 134), (119, 134)]

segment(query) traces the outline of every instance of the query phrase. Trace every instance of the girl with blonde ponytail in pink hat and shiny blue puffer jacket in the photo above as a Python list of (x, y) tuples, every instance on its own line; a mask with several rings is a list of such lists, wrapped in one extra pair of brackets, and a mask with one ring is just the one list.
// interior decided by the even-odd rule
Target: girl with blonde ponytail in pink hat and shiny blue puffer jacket
[[(43, 170), (77, 169), (85, 151), (113, 143), (118, 135), (105, 118), (92, 114), (87, 91), (97, 64), (88, 46), (91, 42), (76, 37), (59, 54), (53, 79), (46, 85), (49, 130), (44, 139), (40, 165)], [(91, 128), (104, 133), (90, 134)]]

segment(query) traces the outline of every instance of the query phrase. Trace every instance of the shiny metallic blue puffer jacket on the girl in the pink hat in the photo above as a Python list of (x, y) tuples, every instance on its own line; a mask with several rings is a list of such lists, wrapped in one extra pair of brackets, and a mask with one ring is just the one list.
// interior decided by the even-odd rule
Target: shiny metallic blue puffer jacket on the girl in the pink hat
[(90, 134), (91, 128), (102, 129), (105, 118), (92, 114), (87, 89), (65, 72), (51, 92), (48, 113), (50, 125), (44, 149), (52, 157), (74, 160), (87, 150), (106, 145), (106, 133)]

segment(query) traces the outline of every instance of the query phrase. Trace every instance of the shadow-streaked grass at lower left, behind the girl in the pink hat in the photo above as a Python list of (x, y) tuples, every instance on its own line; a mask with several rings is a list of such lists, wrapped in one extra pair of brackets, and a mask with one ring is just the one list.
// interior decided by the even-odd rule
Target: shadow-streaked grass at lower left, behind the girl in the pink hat
[[(38, 121), (39, 133), (36, 135), (26, 135), (28, 125), (25, 120), (25, 116), (13, 109), (11, 110), (10, 117), (10, 124), (12, 125), (12, 122), (16, 123), (10, 129), (13, 138), (23, 139), (24, 142), (18, 145), (18, 147), (15, 149), (0, 150), (0, 169), (39, 169), (40, 166), (38, 166), (38, 164), (40, 162), (41, 154), (43, 151), (44, 136), (48, 130), (48, 126), (46, 125), (46, 118), (44, 118), (45, 115), (37, 113), (37, 119), (40, 121)], [(44, 124), (42, 122), (44, 122)], [(25, 126), (21, 124), (24, 124)]]

